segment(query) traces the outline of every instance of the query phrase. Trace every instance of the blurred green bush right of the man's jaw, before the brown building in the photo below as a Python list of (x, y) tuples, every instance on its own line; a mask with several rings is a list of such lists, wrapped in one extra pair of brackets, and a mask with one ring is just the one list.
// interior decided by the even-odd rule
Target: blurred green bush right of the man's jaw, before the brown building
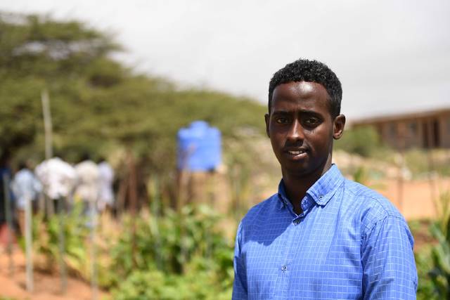
[(370, 157), (385, 150), (385, 146), (373, 127), (362, 126), (345, 130), (342, 138), (335, 141), (334, 149)]

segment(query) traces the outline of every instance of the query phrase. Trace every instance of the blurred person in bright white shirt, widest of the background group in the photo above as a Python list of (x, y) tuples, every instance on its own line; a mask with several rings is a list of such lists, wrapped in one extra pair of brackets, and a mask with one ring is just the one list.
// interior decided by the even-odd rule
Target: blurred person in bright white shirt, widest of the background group
[(62, 202), (60, 207), (63, 210), (68, 209), (72, 201), (68, 198), (72, 196), (77, 181), (75, 169), (60, 157), (53, 157), (38, 164), (34, 173), (42, 183), (44, 194), (53, 200), (52, 210), (58, 211), (58, 201)]

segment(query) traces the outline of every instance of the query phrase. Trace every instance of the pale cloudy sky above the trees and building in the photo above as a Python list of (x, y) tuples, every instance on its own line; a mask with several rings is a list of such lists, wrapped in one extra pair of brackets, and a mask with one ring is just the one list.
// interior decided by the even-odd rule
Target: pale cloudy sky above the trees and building
[(349, 119), (450, 107), (448, 0), (39, 0), (0, 10), (51, 13), (113, 32), (140, 72), (267, 101), (297, 58), (326, 63)]

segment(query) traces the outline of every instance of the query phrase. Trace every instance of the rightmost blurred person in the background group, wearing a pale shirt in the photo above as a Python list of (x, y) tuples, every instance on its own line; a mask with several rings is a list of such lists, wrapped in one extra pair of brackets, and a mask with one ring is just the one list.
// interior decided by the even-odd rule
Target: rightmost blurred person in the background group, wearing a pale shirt
[(110, 211), (114, 207), (113, 192), (114, 170), (105, 158), (101, 157), (98, 163), (98, 210)]

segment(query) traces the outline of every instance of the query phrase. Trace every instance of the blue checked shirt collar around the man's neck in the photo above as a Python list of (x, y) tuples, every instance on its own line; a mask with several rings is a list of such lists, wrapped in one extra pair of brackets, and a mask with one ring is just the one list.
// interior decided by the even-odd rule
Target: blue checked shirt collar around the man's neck
[[(340, 173), (338, 167), (335, 164), (332, 164), (330, 169), (328, 169), (328, 171), (326, 171), (326, 173), (323, 174), (309, 190), (307, 190), (307, 195), (309, 195), (316, 204), (325, 206), (343, 181), (344, 177)], [(280, 208), (290, 204), (288, 195), (285, 192), (283, 179), (281, 179), (278, 184), (278, 199), (280, 200)]]

